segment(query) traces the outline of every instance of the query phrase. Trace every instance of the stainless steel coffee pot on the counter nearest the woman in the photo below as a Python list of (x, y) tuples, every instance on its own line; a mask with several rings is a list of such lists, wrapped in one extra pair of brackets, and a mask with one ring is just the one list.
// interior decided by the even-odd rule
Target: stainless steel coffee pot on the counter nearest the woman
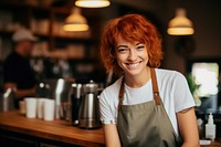
[(98, 84), (94, 81), (83, 85), (84, 94), (78, 113), (78, 126), (82, 128), (101, 127), (97, 88)]

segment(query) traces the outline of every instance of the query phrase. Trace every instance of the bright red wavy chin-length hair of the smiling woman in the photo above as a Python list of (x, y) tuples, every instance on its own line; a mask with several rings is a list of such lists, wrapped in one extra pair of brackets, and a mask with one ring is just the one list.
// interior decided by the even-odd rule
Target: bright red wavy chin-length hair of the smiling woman
[(122, 73), (123, 70), (117, 64), (115, 48), (118, 35), (129, 42), (144, 42), (147, 46), (150, 67), (158, 67), (162, 60), (161, 38), (154, 24), (139, 14), (126, 14), (116, 18), (104, 28), (101, 39), (101, 55), (107, 72)]

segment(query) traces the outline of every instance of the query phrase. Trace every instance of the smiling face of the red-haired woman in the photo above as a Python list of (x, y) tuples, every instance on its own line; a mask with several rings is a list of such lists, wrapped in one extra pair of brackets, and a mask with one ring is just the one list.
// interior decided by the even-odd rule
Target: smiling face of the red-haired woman
[(148, 63), (145, 43), (138, 41), (128, 42), (122, 35), (118, 35), (115, 50), (117, 63), (126, 75), (136, 76), (145, 71)]

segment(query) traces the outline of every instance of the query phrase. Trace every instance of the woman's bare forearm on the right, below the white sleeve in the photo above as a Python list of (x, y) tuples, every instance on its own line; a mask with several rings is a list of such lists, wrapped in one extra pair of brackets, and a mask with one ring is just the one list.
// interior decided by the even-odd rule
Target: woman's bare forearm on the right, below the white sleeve
[(194, 108), (192, 107), (177, 113), (177, 119), (183, 140), (182, 147), (200, 147)]

